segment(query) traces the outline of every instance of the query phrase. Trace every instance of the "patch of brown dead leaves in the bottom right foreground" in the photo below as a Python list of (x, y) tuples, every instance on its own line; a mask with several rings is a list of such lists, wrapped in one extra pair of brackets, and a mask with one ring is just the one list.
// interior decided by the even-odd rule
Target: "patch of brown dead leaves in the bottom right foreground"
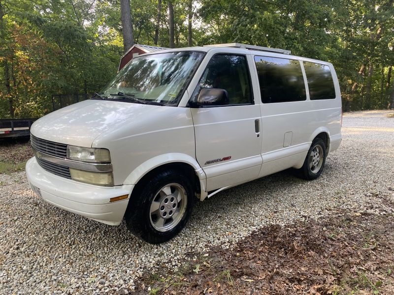
[(145, 277), (136, 293), (394, 294), (393, 249), (392, 215), (333, 212), (215, 247), (176, 274)]

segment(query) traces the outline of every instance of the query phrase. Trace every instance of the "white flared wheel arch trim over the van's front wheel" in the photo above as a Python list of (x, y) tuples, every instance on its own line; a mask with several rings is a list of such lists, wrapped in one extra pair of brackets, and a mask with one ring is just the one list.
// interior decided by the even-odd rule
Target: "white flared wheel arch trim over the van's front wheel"
[(149, 171), (162, 166), (164, 164), (169, 163), (186, 163), (192, 166), (196, 172), (196, 175), (200, 181), (200, 188), (201, 188), (201, 196), (200, 200), (202, 201), (207, 196), (205, 191), (206, 185), (206, 176), (205, 173), (202, 171), (202, 168), (198, 164), (195, 158), (191, 157), (190, 155), (183, 154), (183, 153), (167, 153), (160, 156), (153, 157), (137, 168), (135, 168), (128, 177), (126, 177), (124, 184), (137, 184), (137, 182), (144, 177)]

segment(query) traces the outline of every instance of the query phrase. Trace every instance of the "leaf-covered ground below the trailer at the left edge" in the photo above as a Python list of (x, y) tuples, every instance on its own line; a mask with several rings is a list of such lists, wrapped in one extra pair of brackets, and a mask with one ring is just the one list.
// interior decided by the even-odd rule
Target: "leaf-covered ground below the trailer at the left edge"
[(33, 157), (29, 139), (0, 140), (0, 161), (20, 164)]

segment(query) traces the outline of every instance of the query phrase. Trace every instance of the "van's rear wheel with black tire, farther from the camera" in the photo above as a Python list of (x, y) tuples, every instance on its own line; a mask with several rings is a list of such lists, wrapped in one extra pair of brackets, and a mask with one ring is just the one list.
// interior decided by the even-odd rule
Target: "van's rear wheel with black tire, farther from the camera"
[[(323, 160), (321, 162), (321, 166), (319, 164), (320, 167), (313, 165), (313, 160), (316, 160), (316, 156), (314, 157), (312, 155), (312, 151), (314, 149), (320, 149), (319, 153), (319, 161), (320, 161), (320, 157), (323, 155)], [(315, 150), (316, 150), (315, 149)], [(311, 169), (311, 162), (312, 162), (312, 166), (315, 169)], [(304, 179), (307, 180), (313, 180), (318, 178), (324, 169), (324, 165), (326, 164), (326, 143), (321, 139), (321, 138), (315, 138), (311, 144), (311, 147), (308, 150), (308, 153), (306, 155), (304, 164), (302, 165), (302, 168), (299, 169), (300, 172), (300, 176)]]

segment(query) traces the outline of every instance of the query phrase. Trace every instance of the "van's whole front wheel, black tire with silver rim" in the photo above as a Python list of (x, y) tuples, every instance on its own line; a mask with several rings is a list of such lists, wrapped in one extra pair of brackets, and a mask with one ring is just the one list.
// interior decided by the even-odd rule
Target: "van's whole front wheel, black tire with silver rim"
[[(172, 186), (171, 186), (171, 185)], [(183, 213), (180, 214), (181, 212), (178, 213), (178, 215), (182, 215), (179, 217), (177, 215), (178, 223), (174, 222), (174, 227), (170, 228), (168, 230), (162, 229), (163, 231), (159, 231), (155, 228), (155, 218), (158, 216), (158, 218), (163, 219), (164, 217), (160, 217), (164, 212), (159, 211), (162, 207), (159, 207), (159, 209), (155, 212), (158, 212), (158, 214), (151, 214), (151, 205), (153, 204), (154, 201), (156, 201), (158, 198), (163, 198), (162, 202), (164, 202), (163, 197), (163, 188), (170, 187), (170, 190), (174, 191), (178, 189), (182, 193), (186, 194), (186, 202), (182, 199), (181, 202), (177, 203), (175, 209), (181, 208), (181, 206), (185, 206), (182, 208)], [(175, 189), (174, 189), (175, 187)], [(193, 209), (193, 203), (195, 200), (194, 196), (194, 185), (191, 182), (191, 180), (186, 176), (185, 173), (182, 173), (182, 171), (178, 171), (175, 169), (166, 169), (161, 172), (159, 172), (157, 175), (151, 177), (150, 179), (144, 181), (142, 184), (139, 185), (139, 187), (136, 187), (135, 194), (131, 194), (131, 199), (129, 201), (129, 206), (126, 210), (125, 214), (125, 220), (127, 227), (131, 231), (131, 233), (142, 240), (151, 243), (151, 244), (159, 244), (163, 243), (165, 241), (170, 240), (174, 236), (178, 235), (179, 232), (185, 227), (186, 223), (190, 219), (190, 215), (192, 213)], [(169, 205), (175, 205), (175, 204), (170, 204), (170, 199), (174, 199), (171, 197), (172, 195), (169, 195), (168, 199), (168, 204)], [(183, 195), (184, 196), (184, 195)], [(183, 197), (184, 198), (184, 197)], [(176, 200), (176, 198), (175, 198)], [(174, 200), (174, 202), (176, 202)], [(171, 201), (172, 202), (172, 201)], [(182, 203), (183, 202), (183, 203)], [(182, 203), (182, 204), (181, 204)], [(156, 204), (163, 204), (160, 202), (156, 202)], [(168, 206), (166, 206), (168, 207)], [(171, 208), (165, 209), (165, 210), (170, 210)], [(167, 211), (166, 213), (170, 213), (172, 211)], [(171, 213), (175, 215), (174, 213)], [(166, 218), (172, 218), (168, 217), (169, 215), (166, 216)], [(179, 219), (180, 218), (180, 219)], [(169, 221), (166, 220), (165, 222)], [(173, 219), (175, 220), (175, 219)]]

